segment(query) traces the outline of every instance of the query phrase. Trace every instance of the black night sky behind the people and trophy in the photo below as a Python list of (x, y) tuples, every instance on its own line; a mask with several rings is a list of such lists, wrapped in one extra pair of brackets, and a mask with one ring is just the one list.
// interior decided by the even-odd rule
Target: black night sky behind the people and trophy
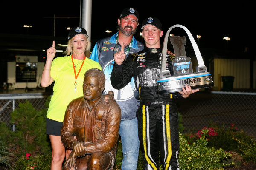
[[(53, 0), (52, 0), (53, 1)], [(30, 34), (53, 36), (53, 16), (72, 17), (57, 18), (55, 26), (56, 37), (67, 37), (67, 27), (79, 26), (80, 0), (61, 1), (9, 1), (6, 12), (1, 11), (0, 33)], [(189, 29), (198, 43), (199, 48), (229, 49), (244, 51), (255, 49), (255, 6), (246, 1), (239, 4), (223, 3), (223, 1), (98, 1), (92, 4), (92, 43), (116, 32), (117, 19), (123, 8), (134, 7), (140, 12), (137, 33), (134, 36), (140, 40), (142, 21), (149, 16), (158, 17), (163, 24), (164, 35), (175, 24), (180, 24)], [(235, 2), (235, 1), (232, 1)], [(3, 2), (1, 2), (3, 3)], [(1, 5), (2, 6), (2, 5)], [(2, 6), (4, 8), (4, 6)], [(4, 23), (4, 24), (3, 24)], [(23, 25), (32, 25), (24, 28)], [(113, 33), (107, 34), (105, 30)], [(175, 28), (171, 34), (186, 36), (180, 28)], [(201, 35), (199, 41), (196, 35)], [(223, 37), (230, 40), (223, 40)], [(163, 36), (164, 37), (164, 36)], [(189, 40), (187, 40), (189, 41)], [(161, 38), (163, 43), (163, 38)]]

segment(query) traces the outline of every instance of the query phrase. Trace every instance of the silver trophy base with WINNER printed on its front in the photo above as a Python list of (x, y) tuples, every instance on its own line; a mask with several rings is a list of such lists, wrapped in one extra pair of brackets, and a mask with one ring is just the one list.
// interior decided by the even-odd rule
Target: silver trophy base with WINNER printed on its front
[(182, 88), (186, 85), (189, 85), (192, 89), (198, 89), (212, 87), (214, 83), (209, 72), (171, 76), (157, 79), (157, 94), (169, 94), (182, 91)]

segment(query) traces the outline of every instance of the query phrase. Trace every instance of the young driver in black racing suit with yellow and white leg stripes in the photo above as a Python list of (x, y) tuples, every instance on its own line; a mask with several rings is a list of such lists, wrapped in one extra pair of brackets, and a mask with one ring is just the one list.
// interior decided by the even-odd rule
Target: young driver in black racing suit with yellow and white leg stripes
[[(136, 116), (140, 147), (144, 155), (144, 170), (159, 169), (159, 151), (165, 170), (179, 170), (178, 113), (175, 99), (186, 98), (199, 91), (190, 86), (173, 94), (157, 94), (157, 79), (160, 78), (162, 48), (160, 37), (162, 24), (155, 17), (148, 17), (142, 23), (144, 50), (128, 56), (125, 60), (123, 45), (114, 55), (115, 63), (111, 73), (111, 84), (119, 89), (134, 77), (140, 94), (140, 107)], [(172, 56), (167, 55), (167, 68), (173, 75)], [(125, 61), (124, 61), (125, 60)]]

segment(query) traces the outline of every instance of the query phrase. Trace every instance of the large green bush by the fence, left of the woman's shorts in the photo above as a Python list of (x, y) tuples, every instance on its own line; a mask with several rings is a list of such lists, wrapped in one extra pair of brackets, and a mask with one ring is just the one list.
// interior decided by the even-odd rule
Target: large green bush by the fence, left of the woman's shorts
[(19, 108), (11, 113), (11, 123), (15, 124), (15, 131), (11, 133), (12, 143), (20, 155), (25, 153), (49, 153), (48, 136), (45, 134), (45, 110), (36, 110), (29, 101), (19, 103)]

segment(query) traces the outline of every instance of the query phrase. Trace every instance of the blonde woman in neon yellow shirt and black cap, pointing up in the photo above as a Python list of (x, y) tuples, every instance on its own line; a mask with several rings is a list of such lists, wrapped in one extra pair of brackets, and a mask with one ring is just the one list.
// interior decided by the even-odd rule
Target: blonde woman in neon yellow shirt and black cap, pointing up
[(90, 68), (102, 70), (98, 62), (85, 56), (85, 51), (90, 50), (90, 41), (84, 28), (70, 29), (67, 39), (66, 56), (55, 59), (55, 42), (52, 42), (52, 47), (47, 50), (41, 79), (42, 87), (55, 81), (46, 119), (46, 133), (52, 146), (51, 170), (61, 170), (65, 156), (68, 158), (71, 152), (65, 151), (61, 143), (61, 127), (67, 105), (73, 99), (83, 96), (84, 73)]

